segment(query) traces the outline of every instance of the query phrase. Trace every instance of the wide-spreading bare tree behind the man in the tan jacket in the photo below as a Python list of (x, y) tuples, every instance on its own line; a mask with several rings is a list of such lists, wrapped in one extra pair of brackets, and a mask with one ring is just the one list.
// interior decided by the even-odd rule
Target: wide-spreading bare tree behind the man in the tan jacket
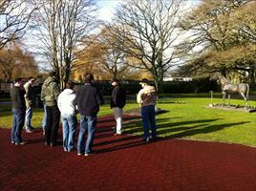
[(129, 0), (117, 10), (117, 28), (111, 29), (122, 51), (140, 60), (131, 65), (150, 72), (161, 91), (163, 74), (176, 60), (173, 49), (180, 32), (177, 30), (181, 0)]

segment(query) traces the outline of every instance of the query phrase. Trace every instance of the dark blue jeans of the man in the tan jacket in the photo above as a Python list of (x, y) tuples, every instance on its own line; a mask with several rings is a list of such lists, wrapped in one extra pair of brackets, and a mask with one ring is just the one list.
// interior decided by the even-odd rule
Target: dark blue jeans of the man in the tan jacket
[(157, 138), (155, 105), (141, 107), (141, 117), (143, 122), (144, 138), (149, 138), (149, 128), (151, 128), (152, 138)]

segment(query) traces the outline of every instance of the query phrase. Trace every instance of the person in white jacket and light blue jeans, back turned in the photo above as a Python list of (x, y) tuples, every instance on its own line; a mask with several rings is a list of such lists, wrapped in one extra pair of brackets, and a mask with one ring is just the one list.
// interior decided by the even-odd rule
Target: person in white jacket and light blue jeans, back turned
[(74, 83), (68, 81), (66, 89), (58, 96), (57, 105), (61, 113), (63, 149), (71, 152), (74, 149), (75, 130), (77, 125), (75, 108)]

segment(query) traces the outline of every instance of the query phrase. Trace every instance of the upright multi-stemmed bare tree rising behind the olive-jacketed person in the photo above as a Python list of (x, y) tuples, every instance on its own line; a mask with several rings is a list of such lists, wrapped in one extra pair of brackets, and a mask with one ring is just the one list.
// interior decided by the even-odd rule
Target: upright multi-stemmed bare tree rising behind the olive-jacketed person
[(95, 27), (94, 5), (94, 0), (41, 0), (33, 18), (38, 53), (57, 72), (62, 88), (73, 70), (75, 50)]

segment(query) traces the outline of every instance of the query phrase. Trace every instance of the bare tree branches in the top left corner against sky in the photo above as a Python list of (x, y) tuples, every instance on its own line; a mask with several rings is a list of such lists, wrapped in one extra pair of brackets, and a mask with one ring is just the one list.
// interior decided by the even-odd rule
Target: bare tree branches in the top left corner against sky
[(35, 10), (35, 7), (28, 9), (28, 5), (27, 0), (0, 1), (0, 49), (25, 34), (25, 28)]

